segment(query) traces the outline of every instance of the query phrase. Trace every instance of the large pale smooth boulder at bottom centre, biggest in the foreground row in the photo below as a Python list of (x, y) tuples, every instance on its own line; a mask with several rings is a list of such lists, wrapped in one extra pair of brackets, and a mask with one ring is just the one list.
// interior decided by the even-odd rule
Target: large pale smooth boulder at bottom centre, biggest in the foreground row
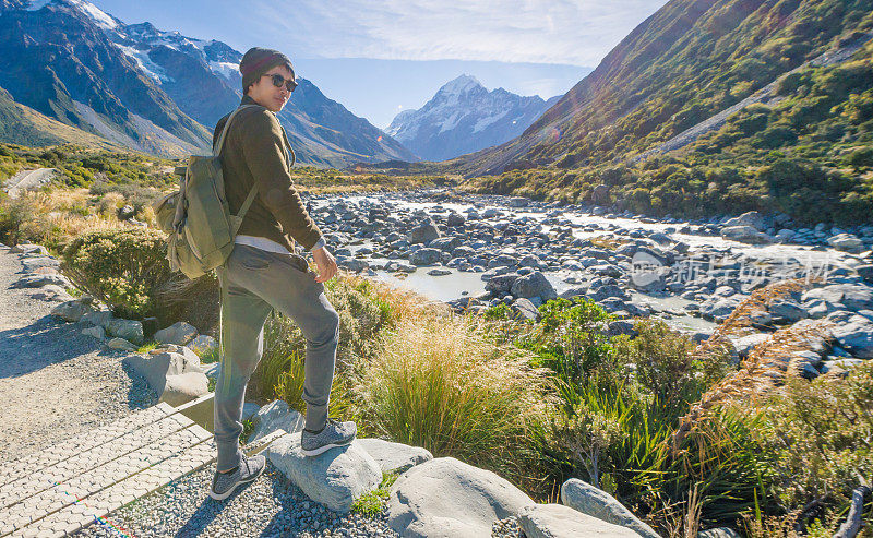
[(391, 488), (391, 528), (410, 538), (491, 536), (498, 519), (534, 504), (498, 475), (453, 457), (440, 457), (404, 473)]

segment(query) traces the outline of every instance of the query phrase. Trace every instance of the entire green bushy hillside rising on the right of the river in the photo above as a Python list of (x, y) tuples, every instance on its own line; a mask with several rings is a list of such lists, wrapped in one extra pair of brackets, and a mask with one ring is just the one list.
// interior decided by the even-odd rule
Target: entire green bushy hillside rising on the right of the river
[[(609, 195), (601, 200), (601, 188), (598, 202), (650, 214), (754, 208), (800, 222), (869, 219), (871, 33), (871, 0), (673, 0), (523, 136), (449, 165), (486, 175), (475, 190), (594, 202), (605, 184)], [(803, 68), (859, 45), (848, 59)], [(766, 105), (634, 163), (775, 81)]]

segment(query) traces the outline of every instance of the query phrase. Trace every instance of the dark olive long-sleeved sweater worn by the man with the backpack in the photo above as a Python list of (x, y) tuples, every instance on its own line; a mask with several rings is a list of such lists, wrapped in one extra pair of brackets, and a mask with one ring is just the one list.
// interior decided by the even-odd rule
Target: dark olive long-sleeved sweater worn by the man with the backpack
[[(241, 105), (258, 105), (248, 95)], [(218, 120), (213, 144), (230, 115)], [(258, 195), (242, 219), (240, 235), (265, 237), (294, 251), (295, 240), (307, 250), (322, 239), (288, 174), (285, 136), (276, 115), (256, 106), (240, 110), (225, 139), (222, 168), (230, 213), (236, 215), (252, 186)]]

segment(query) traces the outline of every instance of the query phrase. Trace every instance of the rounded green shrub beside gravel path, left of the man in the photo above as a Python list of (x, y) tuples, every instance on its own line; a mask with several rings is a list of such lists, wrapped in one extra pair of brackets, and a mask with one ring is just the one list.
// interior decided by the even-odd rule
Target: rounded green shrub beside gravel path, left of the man
[[(158, 314), (157, 290), (174, 279), (160, 231), (122, 228), (74, 238), (63, 251), (63, 272), (121, 318)], [(176, 276), (178, 278), (178, 276)]]

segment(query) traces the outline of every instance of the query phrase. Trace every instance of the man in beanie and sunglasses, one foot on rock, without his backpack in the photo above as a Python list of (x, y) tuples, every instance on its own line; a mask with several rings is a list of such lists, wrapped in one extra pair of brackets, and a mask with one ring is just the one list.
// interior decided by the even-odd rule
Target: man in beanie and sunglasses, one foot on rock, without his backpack
[[(355, 422), (327, 417), (339, 318), (322, 283), (336, 274), (327, 251), (289, 175), (292, 162), (280, 111), (295, 86), (294, 67), (276, 50), (253, 48), (239, 65), (244, 96), (222, 148), (230, 213), (237, 214), (252, 188), (256, 195), (246, 213), (236, 247), (218, 268), (222, 286), (222, 369), (215, 386), (217, 473), (210, 495), (226, 499), (237, 486), (264, 470), (264, 456), (247, 457), (239, 449), (246, 385), (263, 350), (263, 326), (275, 308), (300, 327), (307, 340), (303, 400), (307, 403), (302, 450), (308, 456), (352, 441)], [(229, 115), (228, 115), (229, 116)], [(226, 116), (215, 128), (217, 140)], [(292, 154), (292, 152), (291, 152)], [(312, 252), (318, 275), (295, 252), (295, 242)]]

